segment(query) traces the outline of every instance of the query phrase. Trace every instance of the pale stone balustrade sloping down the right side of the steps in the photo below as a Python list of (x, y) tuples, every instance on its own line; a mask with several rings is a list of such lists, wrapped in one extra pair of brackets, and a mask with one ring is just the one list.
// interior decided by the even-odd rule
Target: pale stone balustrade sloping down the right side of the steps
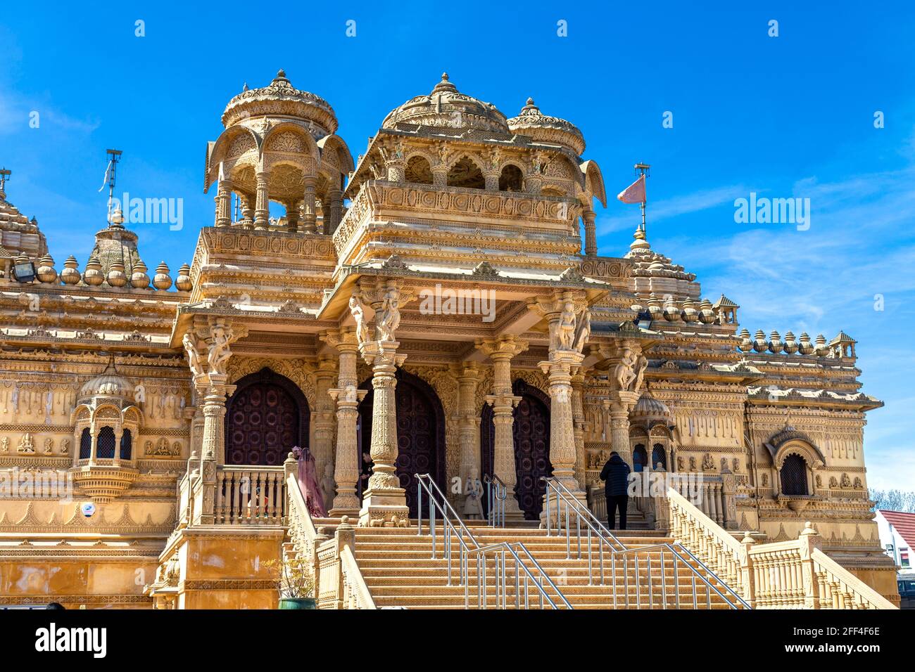
[(671, 536), (690, 549), (757, 609), (896, 609), (821, 549), (807, 523), (798, 539), (757, 545), (741, 541), (694, 507), (673, 488)]

